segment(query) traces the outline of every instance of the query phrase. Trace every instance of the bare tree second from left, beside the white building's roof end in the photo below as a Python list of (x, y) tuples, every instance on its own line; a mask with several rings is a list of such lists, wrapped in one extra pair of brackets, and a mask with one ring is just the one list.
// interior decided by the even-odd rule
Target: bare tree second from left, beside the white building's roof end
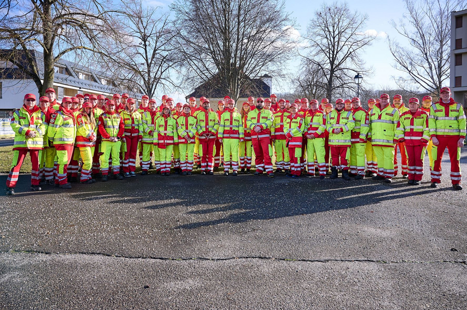
[[(141, 0), (124, 1), (113, 16), (119, 30), (109, 53), (100, 54), (116, 81), (153, 97), (157, 87), (177, 87), (171, 77), (180, 61), (175, 48), (176, 32), (168, 14), (158, 7), (146, 7)], [(99, 56), (99, 55), (98, 55)]]

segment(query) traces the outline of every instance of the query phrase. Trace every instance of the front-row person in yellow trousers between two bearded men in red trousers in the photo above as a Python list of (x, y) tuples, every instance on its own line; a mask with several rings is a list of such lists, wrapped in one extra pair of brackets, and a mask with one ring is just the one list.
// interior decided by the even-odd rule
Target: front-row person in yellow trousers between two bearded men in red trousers
[[(227, 108), (221, 115), (218, 139), (222, 143), (224, 175), (229, 174), (229, 168), (232, 166), (232, 175), (236, 176), (238, 174), (239, 145), (240, 141), (245, 140), (245, 136), (242, 115), (236, 111), (233, 99), (227, 100)], [(230, 161), (230, 156), (232, 156), (232, 161)]]

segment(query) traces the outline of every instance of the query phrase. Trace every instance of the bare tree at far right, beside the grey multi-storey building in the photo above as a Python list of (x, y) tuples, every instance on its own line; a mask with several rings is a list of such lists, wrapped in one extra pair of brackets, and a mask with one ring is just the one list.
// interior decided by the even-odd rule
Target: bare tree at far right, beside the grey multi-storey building
[(407, 13), (392, 26), (406, 42), (388, 40), (394, 68), (405, 73), (396, 78), (403, 89), (422, 88), (439, 96), (449, 79), (450, 12), (466, 6), (463, 0), (405, 0)]

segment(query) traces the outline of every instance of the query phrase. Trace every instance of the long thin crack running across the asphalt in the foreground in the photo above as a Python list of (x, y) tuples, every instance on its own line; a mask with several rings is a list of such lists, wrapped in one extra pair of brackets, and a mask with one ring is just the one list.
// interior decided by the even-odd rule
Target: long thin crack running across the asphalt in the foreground
[(411, 260), (399, 260), (399, 261), (385, 261), (385, 260), (371, 260), (371, 259), (307, 259), (307, 258), (284, 258), (284, 257), (269, 257), (269, 256), (238, 256), (238, 257), (218, 257), (218, 258), (208, 258), (208, 257), (156, 257), (156, 256), (129, 256), (129, 255), (120, 255), (120, 254), (108, 254), (108, 253), (99, 253), (99, 252), (48, 252), (48, 251), (35, 251), (35, 250), (22, 250), (22, 251), (0, 251), (0, 254), (14, 254), (14, 253), (29, 253), (29, 254), (46, 254), (46, 255), (91, 255), (91, 256), (103, 256), (103, 257), (113, 257), (113, 258), (126, 258), (126, 259), (147, 259), (147, 260), (163, 260), (163, 261), (190, 261), (190, 260), (200, 260), (200, 261), (228, 261), (236, 259), (259, 259), (259, 260), (277, 260), (277, 261), (288, 261), (288, 262), (307, 262), (307, 263), (330, 263), (330, 262), (342, 262), (342, 263), (377, 263), (377, 264), (404, 264), (404, 263), (415, 263), (415, 264), (435, 264), (435, 263), (452, 263), (452, 264), (461, 264), (467, 268), (467, 261), (447, 261), (447, 260), (438, 260), (438, 261), (411, 261)]

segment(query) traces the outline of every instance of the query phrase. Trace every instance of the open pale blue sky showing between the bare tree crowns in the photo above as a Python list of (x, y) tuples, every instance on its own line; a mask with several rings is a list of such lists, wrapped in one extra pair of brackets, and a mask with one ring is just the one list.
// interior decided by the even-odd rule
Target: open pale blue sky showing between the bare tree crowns
[[(146, 3), (149, 5), (160, 6), (167, 10), (171, 2), (172, 0), (146, 0)], [(314, 12), (321, 7), (323, 2), (286, 0), (285, 3), (286, 10), (290, 12), (291, 16), (297, 21), (298, 26), (296, 29), (300, 34), (305, 35), (310, 19), (313, 17)], [(369, 18), (363, 30), (378, 34), (378, 40), (373, 41), (372, 45), (365, 49), (363, 55), (366, 65), (373, 67), (374, 74), (373, 76), (364, 76), (363, 82), (376, 89), (386, 88), (387, 86), (390, 88), (397, 87), (393, 77), (400, 75), (400, 71), (391, 66), (394, 61), (389, 52), (387, 36), (390, 36), (391, 39), (396, 38), (401, 43), (404, 42), (390, 24), (391, 20), (398, 22), (402, 18), (402, 14), (405, 12), (404, 2), (402, 0), (349, 0), (348, 4), (352, 11), (368, 14)], [(290, 63), (292, 67), (297, 65), (299, 65), (299, 62)], [(278, 81), (273, 84), (273, 92), (288, 91), (288, 89), (281, 89), (277, 82)], [(281, 81), (282, 85), (289, 85), (283, 82), (285, 81)], [(180, 99), (183, 97), (183, 94), (172, 95), (174, 97), (180, 97)]]

